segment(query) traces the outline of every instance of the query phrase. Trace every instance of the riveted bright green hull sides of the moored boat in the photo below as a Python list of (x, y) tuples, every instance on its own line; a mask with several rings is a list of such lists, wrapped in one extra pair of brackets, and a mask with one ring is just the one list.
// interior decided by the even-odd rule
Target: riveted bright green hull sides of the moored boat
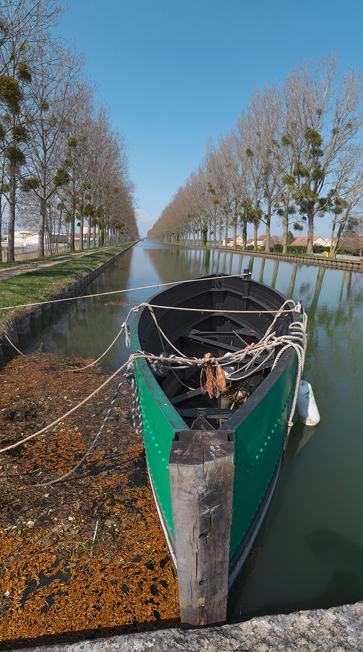
[[(154, 297), (152, 302), (158, 304), (161, 295)], [(170, 301), (170, 296), (169, 291), (169, 296), (163, 297), (163, 305), (167, 305), (166, 300)], [(283, 303), (285, 297), (280, 297)], [(140, 342), (139, 336), (141, 314), (140, 311), (132, 328), (134, 350), (142, 349), (142, 344), (145, 344)], [(157, 310), (155, 314), (157, 316)], [(167, 398), (149, 364), (138, 359), (134, 369), (152, 492), (176, 564), (169, 458), (175, 436), (186, 431), (188, 425)], [(224, 432), (228, 432), (229, 436), (233, 434), (235, 451), (229, 591), (237, 582), (255, 544), (276, 488), (289, 433), (288, 421), (296, 377), (297, 354), (289, 349), (248, 400), (216, 431), (221, 436)]]

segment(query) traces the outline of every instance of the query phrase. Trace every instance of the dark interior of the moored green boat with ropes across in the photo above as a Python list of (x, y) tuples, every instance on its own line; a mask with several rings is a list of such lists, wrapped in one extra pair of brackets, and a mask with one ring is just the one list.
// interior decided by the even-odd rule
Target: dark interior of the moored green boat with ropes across
[[(248, 272), (248, 271), (246, 271)], [(257, 343), (274, 319), (274, 312), (286, 300), (280, 292), (261, 283), (244, 278), (207, 276), (197, 283), (190, 282), (167, 289), (152, 298), (156, 306), (198, 308), (198, 311), (153, 308), (160, 329), (156, 328), (148, 308), (139, 319), (139, 342), (144, 351), (154, 355), (175, 355), (177, 351), (188, 359), (201, 359), (205, 353), (220, 358), (225, 353), (241, 351)], [(215, 312), (203, 312), (212, 310)], [(232, 310), (246, 310), (233, 314)], [(217, 312), (218, 311), (218, 312)], [(287, 313), (285, 328), (294, 315)], [(173, 344), (175, 349), (164, 338)], [(220, 361), (226, 375), (226, 387), (216, 398), (205, 393), (201, 386), (201, 366), (178, 368), (164, 361), (151, 363), (151, 370), (167, 398), (191, 429), (216, 430), (231, 417), (255, 389), (263, 383), (274, 363), (266, 351), (255, 362), (249, 351), (243, 361)], [(203, 391), (204, 390), (204, 391)]]

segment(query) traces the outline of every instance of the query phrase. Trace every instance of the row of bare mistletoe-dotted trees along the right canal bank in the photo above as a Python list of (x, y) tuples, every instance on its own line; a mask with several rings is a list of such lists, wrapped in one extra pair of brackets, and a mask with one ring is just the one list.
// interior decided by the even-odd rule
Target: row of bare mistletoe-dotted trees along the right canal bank
[(359, 70), (340, 73), (338, 56), (308, 59), (285, 83), (255, 89), (233, 130), (207, 141), (206, 153), (148, 233), (151, 239), (219, 245), (247, 224), (266, 229), (278, 216), (283, 252), (289, 226), (308, 228), (313, 252), (316, 218), (331, 218), (336, 254), (340, 236), (361, 228), (363, 200), (363, 80)]

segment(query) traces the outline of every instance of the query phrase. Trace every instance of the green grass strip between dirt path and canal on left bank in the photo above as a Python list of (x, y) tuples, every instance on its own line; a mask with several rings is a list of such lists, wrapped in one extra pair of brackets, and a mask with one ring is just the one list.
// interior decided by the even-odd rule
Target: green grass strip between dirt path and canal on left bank
[[(113, 258), (116, 254), (132, 243), (118, 244), (106, 250), (97, 249), (89, 256), (74, 257), (72, 260), (63, 261), (51, 267), (43, 267), (36, 271), (27, 272), (21, 276), (13, 276), (0, 281), (0, 308), (23, 303), (36, 303), (48, 301), (61, 289), (74, 280), (89, 274), (102, 263)], [(0, 336), (7, 331), (10, 321), (27, 312), (27, 308), (13, 308), (0, 311)]]

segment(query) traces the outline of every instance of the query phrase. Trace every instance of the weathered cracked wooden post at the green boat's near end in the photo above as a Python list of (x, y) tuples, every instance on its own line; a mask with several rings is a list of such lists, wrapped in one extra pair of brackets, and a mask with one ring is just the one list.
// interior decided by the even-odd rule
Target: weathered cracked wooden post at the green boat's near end
[(184, 627), (224, 623), (231, 533), (233, 434), (183, 430), (169, 458), (179, 602)]

